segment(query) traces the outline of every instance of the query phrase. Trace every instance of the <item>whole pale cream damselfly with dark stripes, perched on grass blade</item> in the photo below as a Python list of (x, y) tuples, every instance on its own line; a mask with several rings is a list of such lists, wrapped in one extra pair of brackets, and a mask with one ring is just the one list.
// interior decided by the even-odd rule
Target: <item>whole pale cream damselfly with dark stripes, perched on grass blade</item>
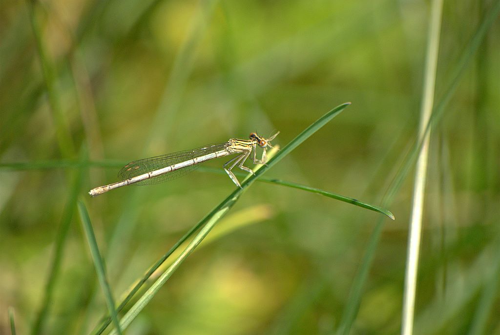
[[(250, 168), (243, 166), (246, 158), (248, 158), (252, 152), (254, 164), (265, 164), (267, 161), (267, 147), (272, 147), (270, 141), (273, 140), (278, 133), (279, 131), (269, 138), (264, 138), (252, 132), (249, 136), (250, 139), (231, 138), (227, 142), (208, 144), (192, 150), (134, 160), (123, 166), (118, 172), (118, 177), (121, 178), (122, 181), (95, 187), (91, 189), (88, 194), (96, 196), (111, 189), (130, 184), (150, 185), (175, 179), (194, 170), (198, 167), (199, 163), (205, 160), (223, 157), (233, 153), (237, 153), (238, 155), (226, 162), (223, 167), (229, 175), (229, 178), (231, 178), (236, 185), (241, 187), (231, 169), (234, 166), (238, 166), (243, 171), (253, 173)], [(257, 146), (262, 148), (260, 159), (257, 159)]]

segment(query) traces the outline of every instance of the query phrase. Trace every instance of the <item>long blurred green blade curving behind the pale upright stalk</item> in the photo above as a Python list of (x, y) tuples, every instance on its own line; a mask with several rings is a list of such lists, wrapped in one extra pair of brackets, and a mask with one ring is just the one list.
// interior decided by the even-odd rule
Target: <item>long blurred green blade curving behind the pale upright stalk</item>
[[(495, 17), (500, 13), (500, 1), (497, 1), (495, 5), (493, 5), (490, 10), (486, 11), (486, 16), (481, 21), (479, 27), (475, 31), (474, 35), (470, 39), (467, 47), (464, 49), (464, 52), (460, 56), (460, 60), (458, 61), (456, 71), (452, 76), (449, 86), (444, 90), (443, 96), (440, 98), (439, 102), (434, 106), (432, 110), (432, 114), (430, 116), (429, 122), (425, 127), (425, 133), (427, 133), (428, 129), (430, 129), (430, 125), (437, 123), (444, 112), (444, 107), (451, 99), (453, 93), (456, 91), (460, 78), (465, 72), (467, 65), (470, 63), (471, 57), (474, 52), (477, 50), (482, 38), (484, 37), (486, 31), (493, 23)], [(401, 167), (398, 169), (393, 181), (387, 189), (386, 194), (382, 200), (382, 206), (388, 207), (397, 192), (399, 191), (404, 179), (409, 173), (411, 166), (413, 166), (416, 155), (419, 152), (419, 149), (422, 145), (421, 141), (415, 142), (414, 147), (408, 152), (406, 157), (403, 160)], [(344, 314), (342, 315), (342, 319), (340, 321), (339, 328), (337, 330), (338, 334), (348, 334), (354, 322), (355, 315), (357, 313), (357, 309), (359, 307), (359, 303), (361, 300), (361, 293), (366, 282), (366, 278), (368, 275), (369, 268), (371, 267), (371, 263), (373, 261), (374, 253), (378, 244), (378, 240), (380, 239), (380, 234), (382, 232), (383, 227), (383, 219), (379, 219), (373, 229), (372, 234), (370, 235), (370, 239), (366, 246), (366, 252), (363, 255), (361, 260), (361, 264), (359, 269), (354, 276), (352, 287), (349, 292), (349, 297), (347, 299), (347, 304), (345, 306)]]

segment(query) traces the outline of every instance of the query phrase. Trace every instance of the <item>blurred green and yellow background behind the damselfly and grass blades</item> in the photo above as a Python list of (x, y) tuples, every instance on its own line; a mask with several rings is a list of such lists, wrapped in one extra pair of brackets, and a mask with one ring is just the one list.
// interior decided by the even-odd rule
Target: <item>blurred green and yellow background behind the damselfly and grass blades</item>
[[(436, 103), (497, 2), (444, 2)], [(89, 198), (130, 160), (253, 131), (280, 130), (273, 143), (283, 146), (345, 101), (352, 105), (266, 175), (380, 205), (412, 152), (428, 1), (0, 7), (1, 333), (9, 306), (18, 333), (34, 328), (67, 219), (40, 333), (86, 334), (106, 313), (79, 216), (65, 209), (75, 187), (117, 302), (235, 187), (226, 175), (196, 171)], [(415, 333), (500, 333), (499, 59), (496, 16), (432, 130)], [(126, 333), (335, 333), (356, 304), (349, 292), (367, 252), (373, 260), (350, 333), (398, 333), (412, 182), (413, 168), (373, 252), (381, 214), (254, 183)]]

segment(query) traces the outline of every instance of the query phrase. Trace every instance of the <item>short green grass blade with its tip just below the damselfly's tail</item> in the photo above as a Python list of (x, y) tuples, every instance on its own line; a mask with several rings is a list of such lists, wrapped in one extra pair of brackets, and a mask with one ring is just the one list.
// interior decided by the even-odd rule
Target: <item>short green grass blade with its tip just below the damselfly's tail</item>
[(107, 309), (111, 315), (111, 319), (114, 323), (116, 332), (121, 335), (121, 328), (118, 322), (118, 317), (116, 315), (116, 309), (114, 307), (114, 300), (111, 294), (111, 288), (106, 279), (106, 273), (104, 270), (103, 259), (100, 256), (99, 247), (97, 246), (97, 241), (92, 229), (92, 223), (90, 223), (90, 217), (88, 216), (87, 209), (82, 201), (78, 201), (78, 211), (80, 213), (81, 224), (83, 225), (83, 230), (87, 236), (87, 242), (92, 255), (92, 260), (95, 265), (95, 271), (97, 272), (97, 277), (99, 279), (100, 286), (104, 292), (104, 297), (107, 304)]

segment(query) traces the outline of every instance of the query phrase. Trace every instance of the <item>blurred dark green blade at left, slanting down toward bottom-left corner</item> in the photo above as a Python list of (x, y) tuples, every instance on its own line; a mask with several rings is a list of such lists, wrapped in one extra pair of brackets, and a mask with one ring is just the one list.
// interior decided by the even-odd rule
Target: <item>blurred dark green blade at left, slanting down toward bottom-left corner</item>
[[(86, 148), (82, 147), (80, 149), (80, 159), (87, 160)], [(47, 317), (49, 306), (52, 304), (53, 291), (55, 287), (55, 281), (57, 275), (60, 271), (61, 260), (64, 251), (64, 245), (66, 244), (67, 234), (69, 231), (69, 225), (73, 217), (73, 213), (76, 207), (76, 200), (78, 193), (81, 189), (81, 184), (83, 180), (83, 168), (79, 168), (73, 173), (73, 182), (68, 193), (67, 202), (62, 211), (61, 221), (59, 228), (57, 230), (57, 235), (55, 236), (55, 251), (53, 254), (53, 259), (51, 260), (50, 270), (48, 272), (47, 282), (45, 284), (44, 295), (41, 300), (41, 305), (37, 313), (36, 319), (33, 323), (33, 328), (31, 329), (31, 334), (39, 334), (42, 332), (45, 319)]]

